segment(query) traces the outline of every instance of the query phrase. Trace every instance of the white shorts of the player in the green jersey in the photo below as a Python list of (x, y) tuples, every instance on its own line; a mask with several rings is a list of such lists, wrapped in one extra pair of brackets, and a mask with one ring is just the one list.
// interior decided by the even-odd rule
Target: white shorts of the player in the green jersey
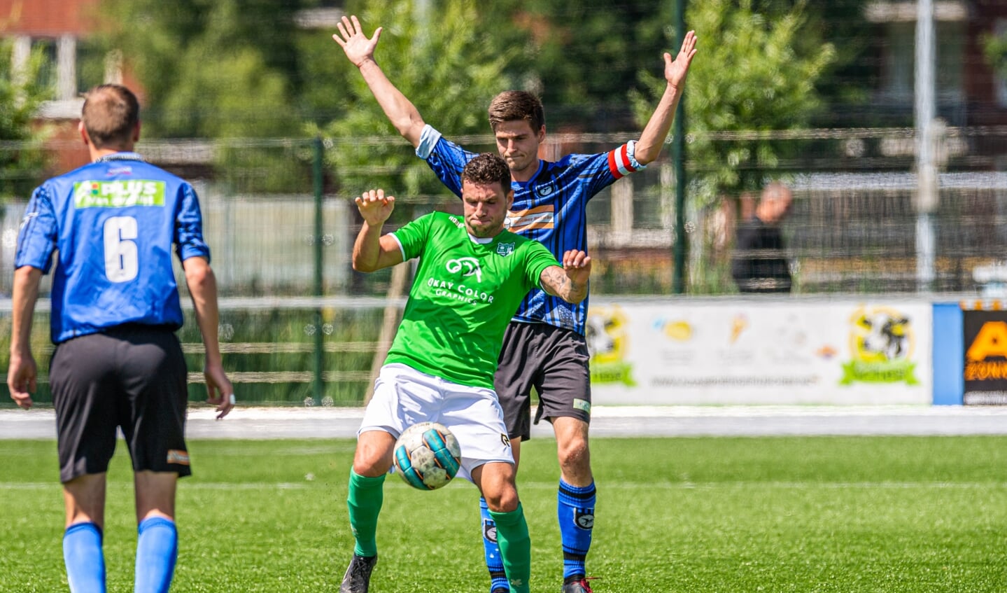
[(458, 475), (471, 480), (483, 463), (514, 463), (503, 410), (493, 390), (468, 387), (393, 362), (381, 367), (357, 435), (380, 430), (398, 438), (417, 422), (439, 422), (461, 448)]

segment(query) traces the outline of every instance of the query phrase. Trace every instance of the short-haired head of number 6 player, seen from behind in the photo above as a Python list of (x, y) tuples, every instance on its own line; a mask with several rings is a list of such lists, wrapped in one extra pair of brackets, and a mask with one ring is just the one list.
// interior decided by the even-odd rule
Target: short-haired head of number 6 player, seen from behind
[(95, 148), (122, 147), (133, 141), (140, 103), (122, 85), (100, 85), (85, 96), (81, 121)]

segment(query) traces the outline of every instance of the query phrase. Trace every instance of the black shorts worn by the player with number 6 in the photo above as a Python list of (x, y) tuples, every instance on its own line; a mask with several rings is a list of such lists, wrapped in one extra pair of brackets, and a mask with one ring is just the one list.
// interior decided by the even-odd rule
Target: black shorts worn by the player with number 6
[(185, 358), (168, 328), (120, 325), (59, 343), (49, 364), (59, 481), (108, 471), (121, 427), (133, 470), (191, 473)]

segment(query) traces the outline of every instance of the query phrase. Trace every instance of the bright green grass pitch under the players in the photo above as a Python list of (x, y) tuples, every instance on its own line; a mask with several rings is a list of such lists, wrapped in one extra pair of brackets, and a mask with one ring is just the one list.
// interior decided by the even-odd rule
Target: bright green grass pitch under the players
[[(351, 550), (348, 440), (195, 441), (172, 591), (334, 591)], [(126, 455), (110, 470), (110, 592), (132, 591)], [(533, 591), (559, 591), (554, 443), (519, 477)], [(597, 593), (1007, 590), (1007, 438), (596, 439)], [(0, 441), (0, 591), (66, 591), (51, 441)], [(386, 482), (374, 593), (488, 590), (475, 488)]]

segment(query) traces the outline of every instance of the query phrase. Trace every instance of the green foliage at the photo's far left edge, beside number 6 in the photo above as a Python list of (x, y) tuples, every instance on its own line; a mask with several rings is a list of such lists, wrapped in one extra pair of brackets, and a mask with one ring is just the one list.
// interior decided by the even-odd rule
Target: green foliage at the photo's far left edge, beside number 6
[[(43, 176), (45, 131), (33, 132), (31, 120), (49, 89), (40, 84), (43, 59), (33, 52), (24, 70), (14, 72), (9, 39), (0, 39), (0, 201), (27, 199)], [(6, 144), (14, 141), (15, 144)]]

